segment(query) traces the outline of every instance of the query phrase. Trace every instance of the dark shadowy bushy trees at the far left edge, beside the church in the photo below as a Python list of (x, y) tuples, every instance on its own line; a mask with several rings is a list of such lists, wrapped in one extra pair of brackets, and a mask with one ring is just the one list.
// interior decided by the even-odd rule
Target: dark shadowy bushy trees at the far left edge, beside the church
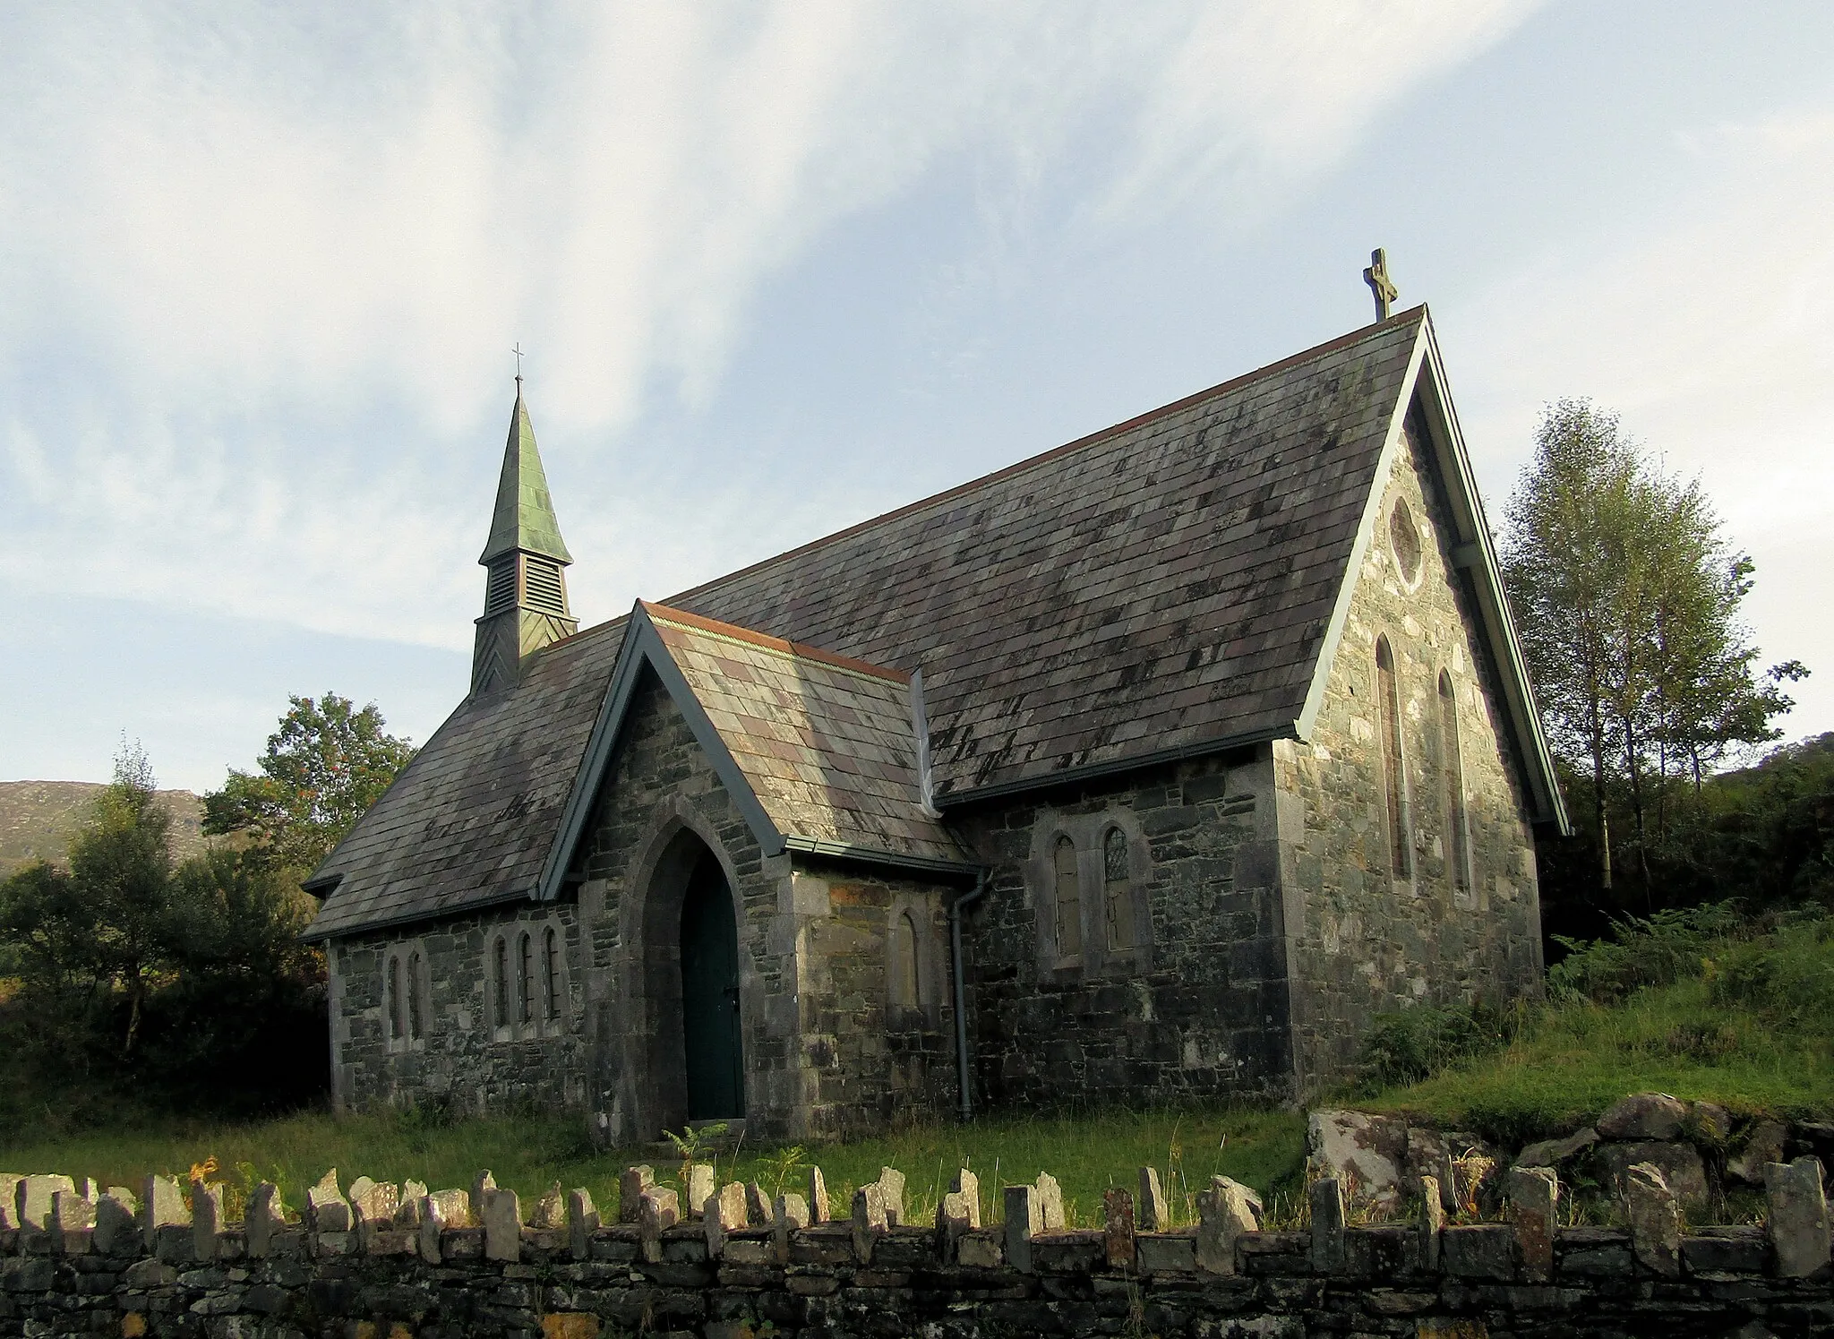
[(57, 1093), (61, 1119), (84, 1102), (110, 1119), (121, 1080), (220, 1110), (323, 1090), (325, 967), (299, 943), (310, 899), (262, 851), (174, 868), (167, 824), (145, 754), (123, 747), (68, 868), (0, 882), (0, 948), (18, 972), (0, 1005), (0, 1119), (33, 1090)]

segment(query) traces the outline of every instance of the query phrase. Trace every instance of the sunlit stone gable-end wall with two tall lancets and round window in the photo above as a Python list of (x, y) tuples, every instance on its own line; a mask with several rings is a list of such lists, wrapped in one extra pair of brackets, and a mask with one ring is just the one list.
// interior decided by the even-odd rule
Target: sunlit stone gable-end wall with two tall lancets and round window
[[(1346, 1073), (1377, 1013), (1539, 989), (1535, 846), (1476, 614), (1458, 585), (1432, 466), (1409, 429), (1309, 745), (1278, 741), (1282, 866), (1293, 937), (1300, 1084)], [(1418, 581), (1399, 570), (1388, 517), (1405, 499), (1420, 534)], [(1376, 638), (1396, 660), (1412, 877), (1392, 879)], [(1471, 880), (1451, 877), (1438, 679), (1453, 679)]]

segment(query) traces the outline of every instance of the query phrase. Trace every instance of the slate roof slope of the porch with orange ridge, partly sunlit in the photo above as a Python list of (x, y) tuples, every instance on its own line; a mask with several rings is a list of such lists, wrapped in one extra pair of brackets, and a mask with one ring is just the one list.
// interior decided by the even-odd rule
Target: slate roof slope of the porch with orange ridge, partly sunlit
[(968, 860), (921, 807), (908, 673), (644, 609), (779, 833)]

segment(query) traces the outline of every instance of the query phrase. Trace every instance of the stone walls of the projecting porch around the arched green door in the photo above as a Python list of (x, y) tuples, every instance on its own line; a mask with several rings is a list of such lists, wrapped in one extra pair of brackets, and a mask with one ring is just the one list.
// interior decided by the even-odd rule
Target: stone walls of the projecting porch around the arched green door
[[(592, 1091), (605, 1137), (657, 1137), (682, 1119), (653, 1101), (668, 1079), (657, 1069), (679, 1057), (657, 1058), (651, 1046), (668, 1011), (679, 1009), (655, 985), (657, 956), (679, 952), (679, 912), (657, 902), (664, 910), (649, 915), (668, 879), (668, 844), (688, 840), (680, 833), (723, 857), (739, 906), (748, 1134), (822, 1137), (880, 1124), (893, 1112), (946, 1110), (954, 1051), (952, 1014), (941, 1005), (945, 890), (765, 857), (688, 721), (662, 684), (646, 679), (576, 869), (587, 880)], [(926, 932), (926, 1003), (888, 1014), (888, 917), (904, 908)]]

